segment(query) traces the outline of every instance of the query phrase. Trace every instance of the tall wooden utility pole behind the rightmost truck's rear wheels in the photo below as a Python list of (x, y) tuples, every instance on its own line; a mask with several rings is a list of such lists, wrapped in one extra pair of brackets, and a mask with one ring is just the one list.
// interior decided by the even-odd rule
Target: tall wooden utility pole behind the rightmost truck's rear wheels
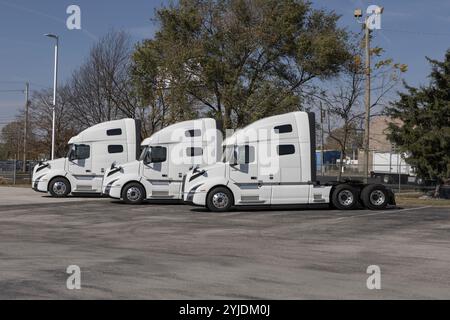
[(364, 96), (364, 104), (366, 106), (365, 121), (364, 121), (364, 181), (367, 183), (369, 179), (369, 144), (370, 144), (370, 29), (368, 21), (364, 23), (365, 34), (365, 75), (366, 75), (366, 90)]

